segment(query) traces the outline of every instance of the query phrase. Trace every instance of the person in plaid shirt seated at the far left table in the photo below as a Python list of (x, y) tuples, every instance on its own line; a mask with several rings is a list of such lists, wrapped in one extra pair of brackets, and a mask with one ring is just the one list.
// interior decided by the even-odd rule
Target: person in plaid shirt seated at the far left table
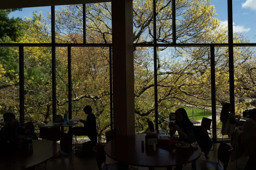
[(6, 145), (16, 147), (19, 143), (32, 139), (32, 133), (24, 124), (15, 120), (13, 113), (5, 113), (3, 117), (5, 126), (0, 130), (0, 142), (2, 147)]

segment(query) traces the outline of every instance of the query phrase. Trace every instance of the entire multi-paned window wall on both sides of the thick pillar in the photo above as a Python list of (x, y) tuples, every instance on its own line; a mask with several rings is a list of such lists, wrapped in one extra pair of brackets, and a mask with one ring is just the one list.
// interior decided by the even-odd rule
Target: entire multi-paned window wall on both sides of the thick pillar
[[(234, 114), (255, 106), (255, 9), (241, 2), (133, 0), (136, 133), (147, 119), (168, 130), (163, 118), (183, 107), (191, 119), (212, 119), (216, 140), (225, 102)], [(88, 104), (103, 141), (112, 120), (111, 3), (23, 10), (24, 19), (0, 11), (11, 26), (0, 31), (0, 113), (38, 127), (56, 114), (84, 119)]]

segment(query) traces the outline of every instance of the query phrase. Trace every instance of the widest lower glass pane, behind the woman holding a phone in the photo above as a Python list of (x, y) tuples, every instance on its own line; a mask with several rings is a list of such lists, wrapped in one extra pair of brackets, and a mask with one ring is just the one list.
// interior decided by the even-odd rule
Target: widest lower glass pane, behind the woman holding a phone
[[(195, 121), (212, 119), (210, 48), (159, 47), (157, 53), (159, 121), (178, 108), (184, 108)], [(167, 127), (163, 122), (159, 128)]]

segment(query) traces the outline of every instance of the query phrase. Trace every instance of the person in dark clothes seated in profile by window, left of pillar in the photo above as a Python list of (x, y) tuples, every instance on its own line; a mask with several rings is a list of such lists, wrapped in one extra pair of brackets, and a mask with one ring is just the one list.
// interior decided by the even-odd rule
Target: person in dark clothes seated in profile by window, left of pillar
[(84, 127), (70, 128), (68, 133), (76, 136), (86, 135), (91, 141), (97, 143), (96, 117), (92, 113), (92, 107), (89, 105), (85, 106), (84, 113), (88, 115), (86, 121), (80, 119), (80, 122), (84, 124)]

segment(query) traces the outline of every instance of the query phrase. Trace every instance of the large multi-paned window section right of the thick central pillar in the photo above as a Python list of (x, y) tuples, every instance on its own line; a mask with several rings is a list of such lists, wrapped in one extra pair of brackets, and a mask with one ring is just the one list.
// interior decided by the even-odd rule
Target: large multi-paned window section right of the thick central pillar
[[(212, 119), (213, 139), (222, 138), (224, 103), (238, 115), (254, 107), (255, 48), (248, 47), (256, 45), (250, 43), (254, 26), (239, 23), (241, 12), (246, 16), (246, 9), (254, 10), (250, 2), (234, 2), (233, 14), (228, 10), (232, 0), (133, 4), (136, 132), (147, 131), (147, 119), (168, 130), (163, 119), (182, 107), (190, 119)], [(143, 10), (146, 15), (140, 17)]]

